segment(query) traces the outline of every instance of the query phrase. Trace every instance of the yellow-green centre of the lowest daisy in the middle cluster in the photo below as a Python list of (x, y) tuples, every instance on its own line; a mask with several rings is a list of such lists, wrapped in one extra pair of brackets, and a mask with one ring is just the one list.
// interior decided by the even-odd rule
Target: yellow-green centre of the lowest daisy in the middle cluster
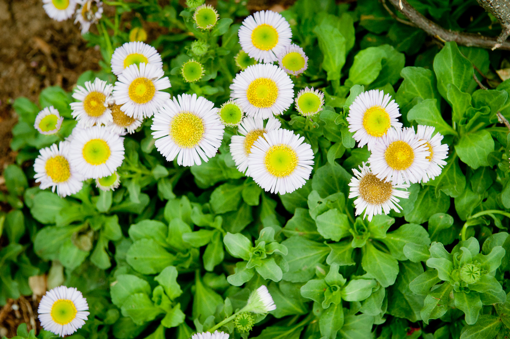
[(297, 154), (287, 145), (274, 145), (269, 148), (264, 157), (264, 165), (269, 173), (277, 178), (284, 178), (297, 166)]

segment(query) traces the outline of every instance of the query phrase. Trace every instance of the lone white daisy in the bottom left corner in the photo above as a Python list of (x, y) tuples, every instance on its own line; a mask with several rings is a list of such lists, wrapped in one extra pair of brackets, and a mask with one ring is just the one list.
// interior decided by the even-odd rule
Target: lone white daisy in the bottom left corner
[(76, 288), (59, 286), (42, 296), (37, 313), (41, 326), (61, 337), (85, 325), (89, 305)]

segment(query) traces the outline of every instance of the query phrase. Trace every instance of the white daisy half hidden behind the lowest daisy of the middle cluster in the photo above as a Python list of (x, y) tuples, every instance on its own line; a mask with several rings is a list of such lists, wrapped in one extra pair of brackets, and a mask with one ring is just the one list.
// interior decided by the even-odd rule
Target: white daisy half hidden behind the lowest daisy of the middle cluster
[(245, 117), (237, 129), (239, 136), (232, 136), (230, 140), (230, 152), (239, 172), (250, 175), (248, 169), (248, 155), (253, 143), (262, 137), (264, 133), (274, 131), (282, 126), (275, 118), (269, 118), (264, 127), (264, 120), (260, 118)]

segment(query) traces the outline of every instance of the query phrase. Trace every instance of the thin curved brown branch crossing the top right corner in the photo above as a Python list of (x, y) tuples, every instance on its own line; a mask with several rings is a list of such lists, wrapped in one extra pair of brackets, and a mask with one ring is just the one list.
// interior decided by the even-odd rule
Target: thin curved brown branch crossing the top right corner
[[(430, 21), (417, 10), (415, 10), (406, 0), (389, 0), (395, 8), (405, 15), (411, 22), (421, 28), (427, 34), (438, 38), (441, 41), (455, 41), (457, 44), (468, 47), (481, 47), (492, 49), (498, 44), (497, 38), (486, 37), (478, 34), (460, 33), (448, 31), (435, 22)], [(499, 49), (510, 50), (510, 42), (504, 41)]]

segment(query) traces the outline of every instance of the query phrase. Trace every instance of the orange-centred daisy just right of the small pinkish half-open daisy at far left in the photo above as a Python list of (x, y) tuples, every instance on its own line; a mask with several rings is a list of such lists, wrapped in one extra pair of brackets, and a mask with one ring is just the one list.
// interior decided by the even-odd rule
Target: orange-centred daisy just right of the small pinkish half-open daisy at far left
[(77, 86), (72, 94), (78, 102), (71, 102), (72, 117), (82, 127), (107, 124), (112, 121), (112, 111), (108, 105), (112, 103), (113, 86), (96, 77), (94, 82), (87, 81), (85, 88)]

